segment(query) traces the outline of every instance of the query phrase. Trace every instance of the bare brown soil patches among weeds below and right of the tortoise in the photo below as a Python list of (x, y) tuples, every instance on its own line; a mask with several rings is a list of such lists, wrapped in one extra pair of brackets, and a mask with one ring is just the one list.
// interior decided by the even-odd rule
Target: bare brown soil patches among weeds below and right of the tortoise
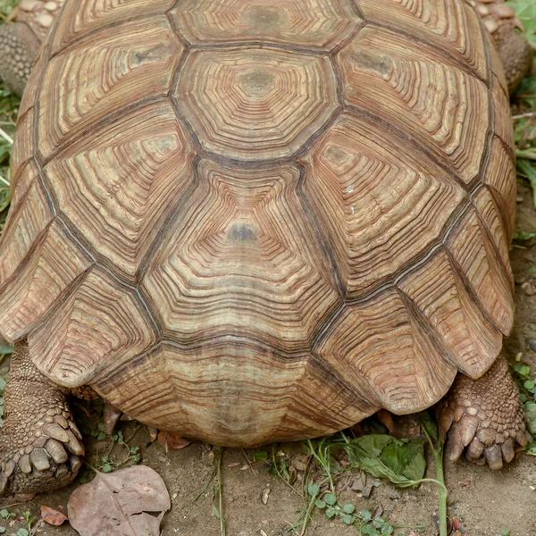
[[(536, 212), (532, 205), (532, 190), (524, 184), (518, 188), (518, 230), (536, 230)], [(534, 240), (532, 240), (534, 242)], [(523, 361), (532, 365), (536, 371), (536, 354), (530, 349), (529, 338), (536, 339), (536, 273), (530, 272), (536, 266), (536, 245), (532, 242), (518, 243), (511, 250), (515, 273), (517, 314), (515, 330), (507, 340), (507, 356), (514, 361), (515, 355), (523, 352)], [(525, 282), (534, 285), (532, 288)], [(534, 348), (536, 343), (533, 343)], [(84, 418), (83, 415), (81, 417)], [(95, 424), (94, 424), (95, 425)], [(121, 423), (121, 430), (128, 438), (137, 429), (135, 423)], [(165, 452), (158, 443), (150, 443), (148, 431), (139, 427), (130, 445), (140, 448), (142, 462), (160, 473), (172, 496), (172, 509), (163, 520), (163, 535), (172, 536), (217, 536), (220, 522), (213, 514), (213, 485), (195, 501), (194, 498), (204, 489), (214, 469), (214, 452), (204, 444), (192, 443), (181, 450)], [(111, 444), (109, 441), (87, 440), (89, 459), (95, 460), (105, 455)], [(274, 446), (276, 453), (284, 452), (290, 458), (303, 456), (302, 444)], [(272, 452), (272, 447), (263, 448)], [(123, 456), (120, 447), (113, 453)], [(289, 527), (297, 514), (303, 509), (303, 498), (283, 482), (281, 478), (269, 473), (269, 465), (259, 461), (253, 464), (255, 450), (227, 449), (222, 461), (223, 510), (227, 522), (228, 536), (283, 536), (292, 534)], [(487, 467), (471, 465), (465, 461), (457, 464), (446, 463), (446, 479), (449, 490), (449, 515), (458, 517), (463, 523), (463, 533), (469, 536), (496, 536), (509, 530), (511, 536), (530, 536), (536, 534), (536, 458), (520, 456), (513, 464), (491, 472)], [(433, 476), (433, 465), (429, 464), (429, 475)], [(373, 489), (370, 498), (361, 498), (359, 493), (344, 490), (348, 479), (339, 481), (339, 498), (351, 501), (358, 509), (374, 511), (381, 508), (383, 516), (393, 523), (423, 524), (425, 536), (437, 533), (433, 515), (437, 513), (437, 493), (430, 485), (422, 485), (418, 490), (398, 490), (389, 483), (382, 482)], [(17, 503), (15, 498), (0, 500), (0, 508), (21, 514), (30, 510), (38, 515), (39, 505), (47, 505), (66, 511), (67, 500), (72, 490), (80, 484), (72, 484), (64, 490), (39, 495), (27, 503)], [(297, 491), (301, 484), (294, 483)], [(269, 490), (269, 494), (266, 490)], [(262, 496), (267, 501), (264, 504)], [(0, 526), (2, 522), (0, 521)], [(21, 520), (7, 526), (7, 534), (14, 533), (23, 524)], [(397, 529), (395, 534), (408, 535), (409, 528)], [(297, 533), (297, 532), (296, 532)], [(414, 534), (416, 532), (413, 532)], [(46, 536), (75, 536), (68, 523), (62, 527), (51, 527), (38, 523), (32, 534)], [(306, 534), (309, 536), (344, 536), (357, 534), (356, 528), (345, 526), (339, 519), (328, 520), (316, 511), (313, 522)]]

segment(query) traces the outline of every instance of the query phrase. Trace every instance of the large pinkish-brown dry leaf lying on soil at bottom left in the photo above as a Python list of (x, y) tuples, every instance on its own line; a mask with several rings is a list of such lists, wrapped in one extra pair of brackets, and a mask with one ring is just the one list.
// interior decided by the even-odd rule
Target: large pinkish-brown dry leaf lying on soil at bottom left
[(67, 505), (80, 536), (159, 536), (163, 513), (170, 508), (162, 478), (145, 465), (96, 472), (93, 481), (73, 491)]

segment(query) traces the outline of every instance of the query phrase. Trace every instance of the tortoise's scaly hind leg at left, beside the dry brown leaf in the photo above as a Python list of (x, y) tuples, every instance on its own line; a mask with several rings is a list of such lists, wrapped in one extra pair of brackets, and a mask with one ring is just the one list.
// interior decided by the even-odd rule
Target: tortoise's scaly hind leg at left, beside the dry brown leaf
[(4, 393), (0, 493), (61, 488), (80, 468), (84, 448), (62, 389), (39, 373), (26, 341), (17, 343)]

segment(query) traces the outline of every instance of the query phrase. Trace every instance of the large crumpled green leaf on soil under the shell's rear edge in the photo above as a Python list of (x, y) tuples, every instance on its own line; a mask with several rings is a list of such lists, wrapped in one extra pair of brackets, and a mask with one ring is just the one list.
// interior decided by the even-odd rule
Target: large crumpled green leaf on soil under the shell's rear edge
[(372, 434), (350, 440), (345, 450), (352, 467), (398, 484), (422, 479), (426, 469), (423, 444), (416, 441)]

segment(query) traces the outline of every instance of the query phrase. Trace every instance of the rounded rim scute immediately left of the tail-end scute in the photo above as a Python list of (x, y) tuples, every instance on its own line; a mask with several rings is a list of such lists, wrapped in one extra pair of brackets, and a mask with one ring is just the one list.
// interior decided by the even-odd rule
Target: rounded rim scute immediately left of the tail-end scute
[(41, 373), (72, 388), (98, 381), (109, 361), (130, 361), (155, 337), (137, 293), (94, 268), (28, 341)]

